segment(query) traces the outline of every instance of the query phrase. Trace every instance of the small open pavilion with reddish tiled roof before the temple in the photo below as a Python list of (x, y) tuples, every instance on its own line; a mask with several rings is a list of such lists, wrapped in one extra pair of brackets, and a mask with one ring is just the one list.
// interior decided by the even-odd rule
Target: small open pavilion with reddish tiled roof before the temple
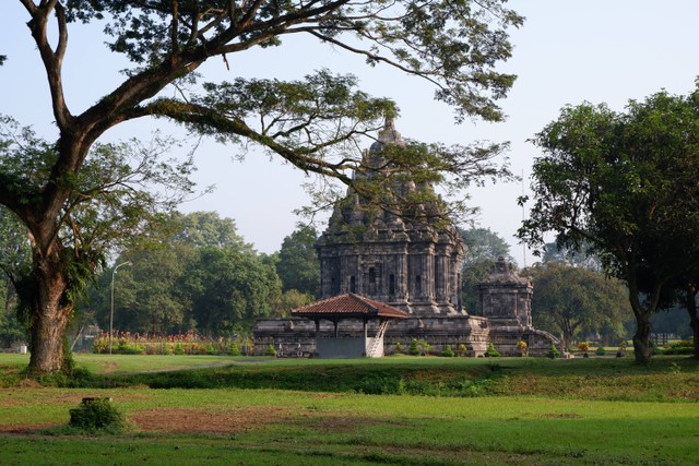
[[(306, 318), (316, 322), (316, 334), (319, 334), (320, 321), (328, 320), (334, 325), (334, 338), (316, 338), (318, 357), (381, 357), (383, 356), (383, 335), (392, 319), (405, 319), (407, 314), (400, 309), (364, 296), (348, 292), (323, 299), (292, 311), (293, 316)], [(362, 320), (363, 335), (357, 337), (339, 337), (339, 325), (343, 320)], [(379, 320), (375, 337), (367, 336), (367, 324), (370, 320)]]

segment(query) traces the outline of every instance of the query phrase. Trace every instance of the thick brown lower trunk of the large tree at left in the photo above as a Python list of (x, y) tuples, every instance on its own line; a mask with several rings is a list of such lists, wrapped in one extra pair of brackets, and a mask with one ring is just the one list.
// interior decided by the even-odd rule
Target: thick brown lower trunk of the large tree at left
[(59, 372), (64, 369), (63, 337), (73, 310), (66, 299), (68, 280), (59, 244), (46, 248), (47, 254), (36, 253), (35, 247), (33, 286), (26, 289), (24, 300), (31, 311), (29, 371), (35, 375)]

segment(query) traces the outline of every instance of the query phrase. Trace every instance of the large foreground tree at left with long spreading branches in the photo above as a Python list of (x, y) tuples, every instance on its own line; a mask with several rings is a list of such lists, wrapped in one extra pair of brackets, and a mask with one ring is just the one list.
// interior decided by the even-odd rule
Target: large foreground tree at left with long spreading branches
[[(372, 134), (386, 117), (396, 113), (392, 101), (371, 98), (356, 89), (354, 76), (327, 70), (289, 83), (236, 79), (202, 85), (193, 72), (212, 57), (235, 65), (233, 53), (280, 46), (288, 35), (304, 35), (358, 55), (369, 64), (424, 79), (436, 86), (437, 99), (454, 107), (459, 121), (471, 116), (498, 121), (502, 112), (497, 100), (507, 95), (514, 76), (496, 71), (496, 65), (511, 56), (507, 29), (523, 22), (503, 7), (505, 0), (20, 3), (27, 17), (17, 20), (28, 26), (44, 64), (58, 132), (50, 143), (14, 147), (13, 162), (0, 165), (0, 203), (26, 226), (34, 251), (23, 288), (27, 291), (19, 292), (32, 314), (29, 368), (36, 374), (63, 367), (63, 334), (76, 291), (104, 260), (104, 251), (94, 248), (94, 241), (102, 240), (99, 230), (87, 235), (91, 223), (78, 222), (71, 213), (75, 205), (95, 200), (86, 195), (94, 191), (80, 180), (88, 166), (108, 168), (91, 164), (99, 152), (95, 143), (107, 130), (129, 120), (164, 117), (222, 141), (259, 144), (307, 172), (352, 184), (350, 170), (362, 166), (351, 148), (357, 147), (356, 138)], [(109, 51), (125, 56), (132, 68), (111, 92), (73, 115), (64, 92), (64, 58), (69, 31), (87, 23), (104, 24)], [(175, 88), (163, 92), (170, 84)], [(457, 182), (467, 183), (474, 176), (499, 174), (488, 160), (501, 148), (436, 146), (419, 153), (420, 159), (414, 158), (414, 151), (396, 152), (391, 166), (430, 178), (453, 175)], [(42, 168), (40, 176), (28, 178), (37, 172), (33, 167)], [(367, 196), (375, 192), (356, 188)], [(434, 195), (428, 190), (422, 194)], [(139, 218), (138, 212), (121, 214), (117, 224)], [(87, 236), (94, 241), (82, 240)]]

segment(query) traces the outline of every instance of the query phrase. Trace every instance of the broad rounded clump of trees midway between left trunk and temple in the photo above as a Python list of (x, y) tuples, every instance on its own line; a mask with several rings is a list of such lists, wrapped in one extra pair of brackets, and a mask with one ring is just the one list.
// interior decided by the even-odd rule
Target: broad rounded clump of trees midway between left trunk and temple
[[(125, 250), (115, 264), (114, 325), (131, 333), (198, 332), (210, 337), (249, 331), (281, 295), (274, 263), (212, 212), (173, 214), (151, 242)], [(90, 307), (109, 326), (111, 271), (91, 291)]]

